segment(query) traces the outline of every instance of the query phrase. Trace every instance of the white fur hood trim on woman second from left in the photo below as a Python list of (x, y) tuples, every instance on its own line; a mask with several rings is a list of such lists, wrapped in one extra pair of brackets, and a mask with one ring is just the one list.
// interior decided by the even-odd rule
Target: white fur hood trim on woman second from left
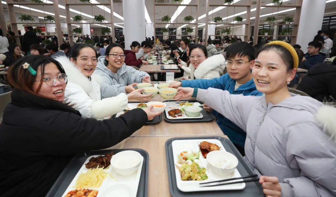
[[(72, 63), (66, 56), (58, 56), (55, 58), (64, 68), (67, 76), (68, 82), (75, 83), (81, 86), (84, 91), (89, 94), (91, 90), (91, 81), (94, 80), (93, 76), (91, 75), (91, 81), (88, 77), (86, 77), (74, 63)], [(93, 78), (92, 78), (93, 77)]]

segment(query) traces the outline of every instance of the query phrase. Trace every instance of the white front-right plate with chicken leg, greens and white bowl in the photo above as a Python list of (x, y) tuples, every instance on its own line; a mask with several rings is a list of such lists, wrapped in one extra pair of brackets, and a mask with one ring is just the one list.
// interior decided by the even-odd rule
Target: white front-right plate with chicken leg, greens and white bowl
[[(226, 152), (219, 140), (174, 140), (172, 142), (172, 150), (176, 183), (180, 191), (242, 190), (245, 188), (245, 183), (200, 187), (203, 186), (200, 183), (241, 177), (237, 170), (238, 159), (233, 154)], [(229, 154), (230, 157), (226, 156)], [(216, 166), (220, 165), (218, 163), (223, 161), (226, 161), (229, 165), (221, 172), (222, 169), (217, 169)]]

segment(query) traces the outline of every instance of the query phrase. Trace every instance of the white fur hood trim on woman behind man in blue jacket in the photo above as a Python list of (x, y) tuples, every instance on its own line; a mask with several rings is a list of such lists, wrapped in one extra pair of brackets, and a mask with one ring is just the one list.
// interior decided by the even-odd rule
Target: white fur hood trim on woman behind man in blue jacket
[[(223, 55), (218, 54), (211, 56), (204, 60), (197, 69), (195, 69), (194, 76), (196, 79), (202, 79), (210, 71), (222, 74), (225, 68), (225, 58)], [(192, 78), (193, 79), (193, 78)]]

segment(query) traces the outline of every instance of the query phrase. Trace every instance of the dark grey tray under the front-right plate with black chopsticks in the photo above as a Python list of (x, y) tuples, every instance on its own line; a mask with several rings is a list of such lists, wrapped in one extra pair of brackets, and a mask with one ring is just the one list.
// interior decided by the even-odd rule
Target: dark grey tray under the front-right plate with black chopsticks
[[(166, 141), (166, 161), (168, 170), (168, 181), (169, 181), (169, 191), (172, 197), (264, 197), (262, 192), (262, 187), (259, 182), (245, 183), (246, 187), (243, 190), (222, 190), (222, 191), (202, 191), (202, 192), (182, 192), (177, 188), (176, 177), (175, 177), (175, 163), (173, 148), (171, 143), (174, 140), (192, 140), (192, 139), (217, 139), (222, 144), (227, 152), (234, 154), (238, 158), (237, 169), (241, 176), (253, 175), (253, 171), (248, 167), (247, 163), (244, 161), (243, 156), (239, 153), (237, 148), (233, 143), (224, 137), (180, 137), (171, 138)], [(176, 155), (175, 155), (176, 156)]]

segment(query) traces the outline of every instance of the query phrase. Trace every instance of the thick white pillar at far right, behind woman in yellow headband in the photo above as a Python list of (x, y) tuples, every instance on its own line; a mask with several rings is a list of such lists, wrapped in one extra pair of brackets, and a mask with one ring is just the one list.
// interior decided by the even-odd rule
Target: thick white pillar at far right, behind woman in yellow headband
[(318, 30), (321, 30), (325, 7), (326, 0), (302, 2), (296, 44), (301, 46), (304, 53), (307, 52), (308, 43), (313, 41)]

